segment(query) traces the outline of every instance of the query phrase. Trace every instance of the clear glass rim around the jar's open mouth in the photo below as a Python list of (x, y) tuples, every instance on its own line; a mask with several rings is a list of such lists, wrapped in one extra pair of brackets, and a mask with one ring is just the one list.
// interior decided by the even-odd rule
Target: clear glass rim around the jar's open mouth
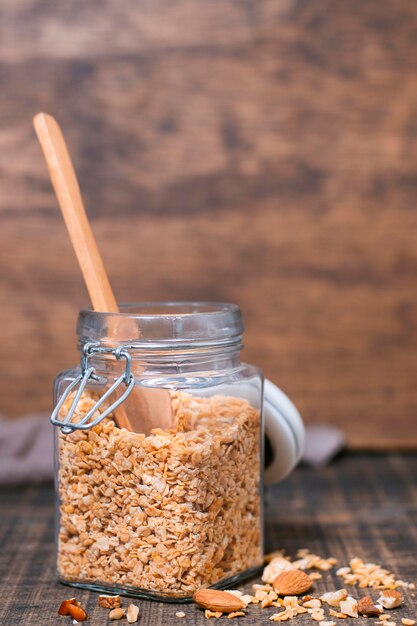
[(87, 307), (77, 322), (81, 345), (105, 340), (107, 345), (148, 349), (235, 345), (243, 330), (238, 305), (208, 301), (120, 304), (117, 313)]

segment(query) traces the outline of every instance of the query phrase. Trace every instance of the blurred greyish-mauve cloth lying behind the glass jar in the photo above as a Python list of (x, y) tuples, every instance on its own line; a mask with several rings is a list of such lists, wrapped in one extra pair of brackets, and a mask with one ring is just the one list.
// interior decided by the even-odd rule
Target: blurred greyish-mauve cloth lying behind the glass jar
[[(53, 478), (53, 426), (46, 414), (0, 417), (0, 485), (35, 484)], [(345, 446), (341, 430), (309, 426), (302, 460), (326, 465)]]

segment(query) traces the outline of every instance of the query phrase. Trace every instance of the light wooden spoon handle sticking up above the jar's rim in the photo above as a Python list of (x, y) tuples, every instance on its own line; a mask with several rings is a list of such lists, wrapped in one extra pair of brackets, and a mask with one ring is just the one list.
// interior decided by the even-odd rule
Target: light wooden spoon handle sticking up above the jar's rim
[(80, 188), (64, 136), (46, 113), (33, 118), (52, 185), (95, 311), (118, 311), (96, 240), (85, 213)]

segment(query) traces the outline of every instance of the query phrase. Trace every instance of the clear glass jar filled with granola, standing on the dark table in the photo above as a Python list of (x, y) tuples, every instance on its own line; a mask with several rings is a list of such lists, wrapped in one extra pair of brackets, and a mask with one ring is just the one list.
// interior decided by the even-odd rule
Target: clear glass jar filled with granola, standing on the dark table
[[(80, 312), (79, 345), (94, 369), (76, 406), (77, 386), (68, 387), (80, 368), (58, 375), (59, 419), (74, 403), (76, 428), (123, 373), (119, 348), (136, 386), (167, 390), (173, 422), (162, 429), (156, 418), (149, 434), (132, 433), (110, 413), (92, 428), (56, 429), (59, 579), (172, 601), (230, 587), (263, 560), (263, 380), (240, 362), (240, 310), (201, 302), (120, 310)], [(128, 398), (121, 406), (129, 415)]]

